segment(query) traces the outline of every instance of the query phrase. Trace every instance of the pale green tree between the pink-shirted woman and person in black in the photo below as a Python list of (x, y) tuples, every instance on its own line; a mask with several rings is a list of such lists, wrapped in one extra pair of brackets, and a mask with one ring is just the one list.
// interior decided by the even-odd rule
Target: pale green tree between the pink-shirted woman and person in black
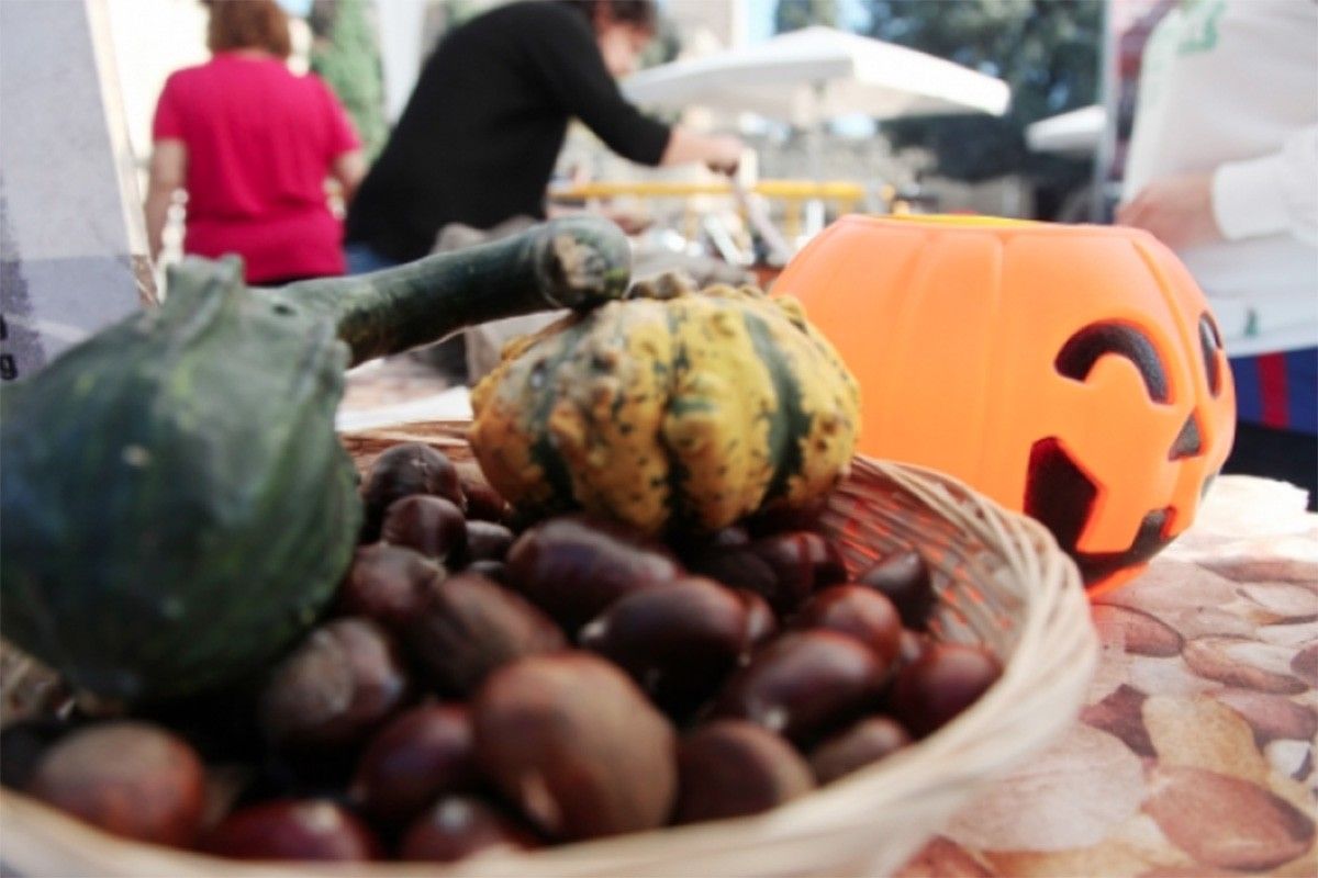
[(389, 137), (380, 41), (368, 0), (316, 0), (310, 17), (315, 41), (311, 70), (333, 90), (352, 117), (368, 161)]

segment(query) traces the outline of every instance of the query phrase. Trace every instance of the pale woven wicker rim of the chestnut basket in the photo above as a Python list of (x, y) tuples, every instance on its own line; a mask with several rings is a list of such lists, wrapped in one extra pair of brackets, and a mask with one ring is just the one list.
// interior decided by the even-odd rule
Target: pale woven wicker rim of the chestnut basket
[[(469, 421), (414, 421), (387, 428), (344, 432), (344, 440), (368, 442), (431, 441), (465, 445), (453, 436)], [(422, 436), (439, 430), (439, 436)], [(447, 436), (447, 438), (445, 438)], [(928, 467), (857, 455), (854, 473), (880, 478), (921, 505), (963, 525), (1002, 553), (1020, 577), (1024, 619), (1000, 679), (956, 720), (902, 750), (854, 774), (821, 786), (784, 806), (747, 817), (664, 827), (642, 833), (580, 841), (530, 852), (498, 853), (459, 864), (380, 862), (345, 870), (341, 865), (244, 864), (194, 852), (154, 848), (109, 836), (13, 790), (0, 790), (0, 824), (17, 817), (40, 836), (37, 848), (66, 841), (86, 845), (104, 858), (128, 865), (108, 874), (262, 874), (270, 878), (345, 874), (370, 878), (413, 875), (576, 875), (675, 874), (655, 871), (664, 864), (693, 856), (726, 853), (733, 848), (787, 842), (834, 845), (846, 833), (875, 831), (883, 808), (912, 808), (937, 803), (949, 807), (999, 777), (1027, 754), (1046, 746), (1078, 713), (1098, 661), (1098, 640), (1089, 616), (1079, 573), (1052, 534), (1035, 520), (1006, 509), (960, 479)], [(941, 509), (941, 512), (940, 512)], [(942, 807), (952, 803), (948, 807)], [(931, 806), (932, 807), (932, 806)], [(898, 819), (902, 815), (896, 815)], [(928, 835), (934, 829), (925, 827)], [(13, 827), (7, 827), (7, 850), (0, 861), (20, 873), (40, 866), (12, 858)], [(24, 839), (33, 841), (33, 839)], [(32, 848), (33, 845), (26, 845)], [(26, 853), (24, 852), (24, 858)], [(67, 873), (63, 873), (67, 874)], [(714, 873), (709, 873), (714, 874)]]

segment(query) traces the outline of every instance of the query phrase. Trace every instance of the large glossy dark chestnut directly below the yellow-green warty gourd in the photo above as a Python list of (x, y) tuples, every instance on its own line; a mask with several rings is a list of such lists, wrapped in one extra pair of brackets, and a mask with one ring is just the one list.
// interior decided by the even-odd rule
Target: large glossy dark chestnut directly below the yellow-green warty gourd
[(681, 573), (662, 545), (581, 515), (529, 528), (509, 549), (507, 569), (522, 594), (573, 633), (622, 595)]

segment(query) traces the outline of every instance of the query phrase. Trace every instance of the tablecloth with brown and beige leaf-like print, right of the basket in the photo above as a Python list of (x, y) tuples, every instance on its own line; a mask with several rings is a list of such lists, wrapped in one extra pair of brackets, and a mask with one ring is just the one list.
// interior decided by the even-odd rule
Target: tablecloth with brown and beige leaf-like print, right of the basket
[(1318, 875), (1318, 515), (1222, 477), (1194, 527), (1093, 607), (1074, 727), (900, 873)]

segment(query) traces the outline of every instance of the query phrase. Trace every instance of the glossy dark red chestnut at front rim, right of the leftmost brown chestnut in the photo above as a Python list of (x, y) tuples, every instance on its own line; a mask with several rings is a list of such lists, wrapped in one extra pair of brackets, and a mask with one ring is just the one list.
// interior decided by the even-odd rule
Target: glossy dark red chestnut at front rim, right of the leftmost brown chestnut
[(326, 799), (274, 799), (239, 808), (206, 833), (200, 848), (232, 860), (365, 862), (382, 856), (370, 829)]

